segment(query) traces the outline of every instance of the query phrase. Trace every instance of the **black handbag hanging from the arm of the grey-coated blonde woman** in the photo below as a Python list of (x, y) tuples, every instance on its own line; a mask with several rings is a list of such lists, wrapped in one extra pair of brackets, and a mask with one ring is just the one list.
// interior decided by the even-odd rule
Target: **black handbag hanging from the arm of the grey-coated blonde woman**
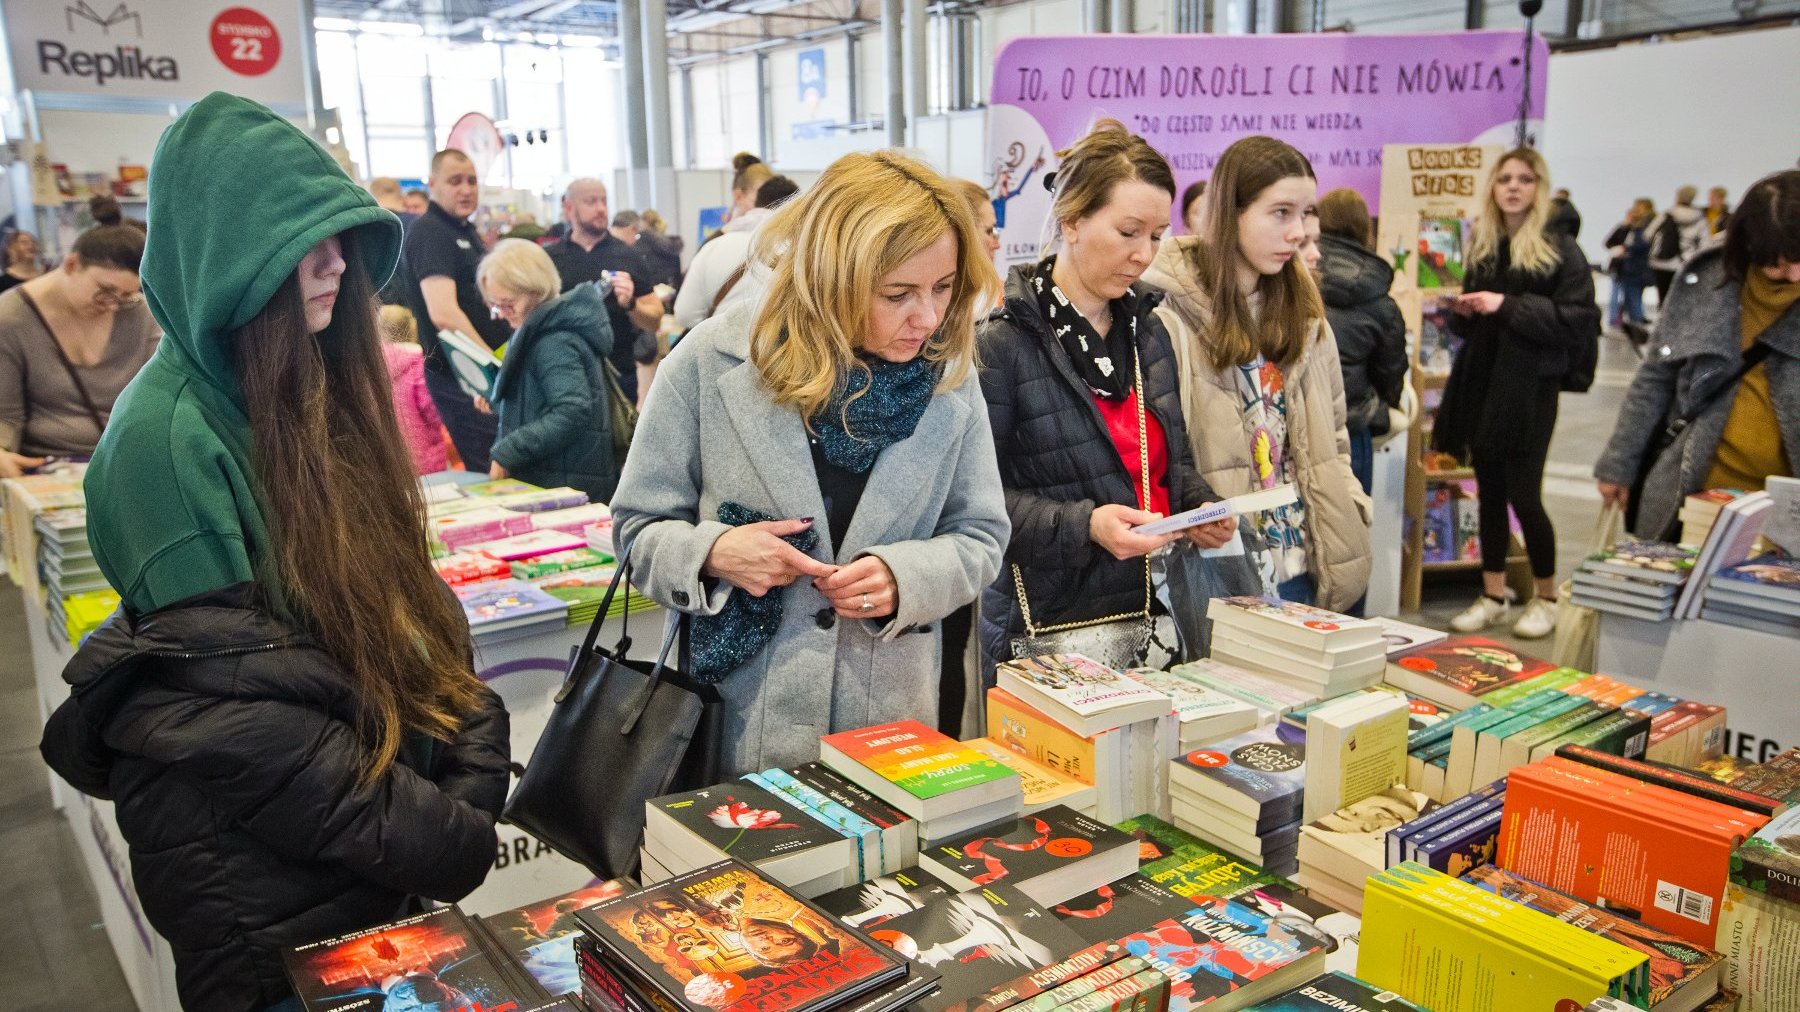
[[(596, 650), (621, 582), (619, 643)], [(601, 879), (635, 872), (644, 801), (716, 783), (724, 753), (718, 690), (686, 677), (691, 618), (670, 621), (653, 664), (632, 661), (630, 603), (630, 560), (621, 558), (502, 816)]]

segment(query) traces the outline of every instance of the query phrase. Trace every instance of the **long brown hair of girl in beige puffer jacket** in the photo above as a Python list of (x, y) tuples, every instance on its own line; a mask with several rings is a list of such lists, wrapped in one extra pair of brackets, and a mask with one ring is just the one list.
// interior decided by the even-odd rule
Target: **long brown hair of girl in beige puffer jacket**
[(1251, 317), (1249, 299), (1238, 292), (1237, 265), (1238, 216), (1256, 203), (1271, 185), (1312, 175), (1312, 162), (1292, 144), (1274, 137), (1244, 137), (1226, 148), (1206, 182), (1204, 241), (1188, 247), (1188, 267), (1211, 303), (1213, 326), (1204, 335), (1206, 357), (1213, 369), (1246, 366), (1260, 353), (1283, 369), (1300, 360), (1307, 335), (1325, 315), (1319, 290), (1300, 258), (1291, 258), (1280, 274), (1256, 279), (1262, 295), (1260, 322)]

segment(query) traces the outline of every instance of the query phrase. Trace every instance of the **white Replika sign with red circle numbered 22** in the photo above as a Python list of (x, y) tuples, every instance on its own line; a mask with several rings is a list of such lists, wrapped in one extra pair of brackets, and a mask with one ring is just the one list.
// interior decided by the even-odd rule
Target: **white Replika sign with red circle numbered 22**
[(22, 90), (306, 103), (292, 0), (4, 0)]

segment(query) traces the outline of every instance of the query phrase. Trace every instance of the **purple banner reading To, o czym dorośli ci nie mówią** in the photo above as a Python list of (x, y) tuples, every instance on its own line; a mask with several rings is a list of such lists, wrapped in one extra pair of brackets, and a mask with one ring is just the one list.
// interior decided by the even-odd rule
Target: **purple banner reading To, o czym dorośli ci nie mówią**
[[(1049, 232), (1044, 166), (1100, 117), (1156, 146), (1177, 189), (1211, 176), (1233, 140), (1265, 133), (1312, 160), (1319, 193), (1348, 185), (1379, 214), (1384, 144), (1512, 140), (1521, 41), (1505, 31), (1013, 40), (994, 61), (983, 178), (1001, 259), (1037, 259)], [(1532, 45), (1528, 119), (1539, 121), (1550, 61), (1541, 38)]]

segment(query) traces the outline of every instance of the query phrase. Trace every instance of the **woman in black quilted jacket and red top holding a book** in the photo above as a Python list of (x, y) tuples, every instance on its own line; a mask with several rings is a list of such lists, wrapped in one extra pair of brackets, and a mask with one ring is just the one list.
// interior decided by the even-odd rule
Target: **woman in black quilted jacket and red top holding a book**
[[(981, 596), (988, 666), (1015, 655), (1026, 609), (1033, 627), (1143, 616), (1154, 598), (1145, 556), (1183, 535), (1132, 528), (1215, 499), (1193, 470), (1156, 297), (1138, 286), (1168, 229), (1174, 175), (1116, 121), (1058, 157), (1062, 252), (1015, 267), (977, 331), (1013, 526), (1010, 565)], [(1235, 531), (1226, 519), (1186, 537), (1219, 547)], [(1165, 609), (1152, 600), (1150, 610)], [(1157, 643), (1172, 646), (1172, 630)]]

